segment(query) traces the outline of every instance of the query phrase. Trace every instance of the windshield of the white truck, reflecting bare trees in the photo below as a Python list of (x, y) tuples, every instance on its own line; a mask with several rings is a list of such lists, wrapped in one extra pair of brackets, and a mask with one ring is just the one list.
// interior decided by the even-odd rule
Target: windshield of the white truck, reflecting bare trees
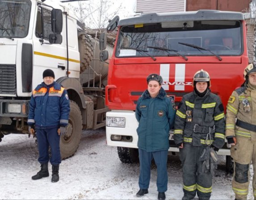
[(26, 37), (30, 0), (0, 0), (0, 37)]

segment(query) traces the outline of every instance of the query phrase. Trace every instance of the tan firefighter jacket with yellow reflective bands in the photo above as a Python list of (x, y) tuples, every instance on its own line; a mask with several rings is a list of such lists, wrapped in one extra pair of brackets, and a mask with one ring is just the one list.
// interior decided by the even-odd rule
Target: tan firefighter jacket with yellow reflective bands
[[(247, 99), (250, 111), (244, 112), (243, 100)], [(252, 90), (248, 87), (239, 87), (230, 96), (227, 103), (226, 111), (226, 138), (229, 137), (247, 137), (256, 138), (256, 134), (253, 131), (243, 129), (235, 125), (237, 118), (240, 121), (248, 124), (256, 125), (256, 90)], [(253, 138), (254, 137), (254, 138)]]

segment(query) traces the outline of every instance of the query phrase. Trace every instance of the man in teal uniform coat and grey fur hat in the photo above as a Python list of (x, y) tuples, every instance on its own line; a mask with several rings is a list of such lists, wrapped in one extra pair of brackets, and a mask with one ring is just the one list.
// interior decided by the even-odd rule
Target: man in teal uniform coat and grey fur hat
[(139, 188), (136, 196), (148, 193), (151, 160), (157, 166), (158, 199), (164, 200), (167, 191), (167, 157), (169, 131), (174, 125), (176, 108), (161, 87), (163, 78), (157, 74), (147, 77), (147, 90), (138, 99), (136, 119), (139, 122), (138, 152), (140, 162)]

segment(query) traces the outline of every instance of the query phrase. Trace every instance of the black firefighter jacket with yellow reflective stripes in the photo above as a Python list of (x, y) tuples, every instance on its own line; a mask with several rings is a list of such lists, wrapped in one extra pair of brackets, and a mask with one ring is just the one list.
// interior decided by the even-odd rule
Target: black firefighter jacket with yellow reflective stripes
[[(186, 111), (191, 110), (192, 121), (188, 121)], [(195, 125), (214, 129), (213, 133), (198, 133), (194, 131)], [(193, 146), (213, 145), (222, 148), (225, 139), (224, 108), (219, 96), (210, 92), (200, 97), (195, 91), (183, 96), (176, 112), (174, 125), (174, 142), (180, 144), (190, 143)], [(210, 130), (210, 129), (209, 129)]]

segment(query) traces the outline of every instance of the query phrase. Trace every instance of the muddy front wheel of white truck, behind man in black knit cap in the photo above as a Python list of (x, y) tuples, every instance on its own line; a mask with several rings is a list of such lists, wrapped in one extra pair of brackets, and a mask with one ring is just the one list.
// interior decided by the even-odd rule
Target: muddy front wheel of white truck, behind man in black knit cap
[(79, 106), (70, 100), (70, 113), (68, 118), (67, 133), (60, 137), (61, 159), (66, 159), (75, 154), (82, 137), (82, 116)]

